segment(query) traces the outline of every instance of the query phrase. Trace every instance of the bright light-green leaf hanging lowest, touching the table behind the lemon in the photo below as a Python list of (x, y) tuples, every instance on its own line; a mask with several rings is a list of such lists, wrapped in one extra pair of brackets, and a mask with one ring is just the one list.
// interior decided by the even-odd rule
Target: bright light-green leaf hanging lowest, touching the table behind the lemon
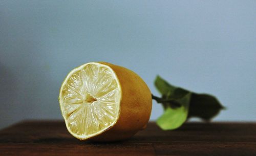
[(157, 119), (157, 125), (163, 130), (172, 130), (180, 127), (187, 119), (191, 94), (188, 93), (177, 101), (182, 104), (179, 108), (167, 107), (164, 114)]

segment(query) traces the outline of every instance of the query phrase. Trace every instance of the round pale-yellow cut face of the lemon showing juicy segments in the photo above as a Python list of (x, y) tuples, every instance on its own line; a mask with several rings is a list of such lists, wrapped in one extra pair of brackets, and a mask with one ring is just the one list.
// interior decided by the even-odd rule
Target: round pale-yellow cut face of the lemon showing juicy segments
[(120, 100), (121, 88), (115, 72), (96, 62), (72, 70), (59, 94), (67, 129), (80, 140), (112, 127), (120, 114)]

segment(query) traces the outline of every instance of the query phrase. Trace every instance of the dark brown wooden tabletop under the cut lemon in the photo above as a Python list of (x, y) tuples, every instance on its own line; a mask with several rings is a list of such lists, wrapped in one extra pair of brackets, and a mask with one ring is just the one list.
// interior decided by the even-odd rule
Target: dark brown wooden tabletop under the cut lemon
[(256, 155), (256, 123), (149, 123), (130, 140), (79, 141), (62, 121), (24, 121), (0, 130), (0, 155)]

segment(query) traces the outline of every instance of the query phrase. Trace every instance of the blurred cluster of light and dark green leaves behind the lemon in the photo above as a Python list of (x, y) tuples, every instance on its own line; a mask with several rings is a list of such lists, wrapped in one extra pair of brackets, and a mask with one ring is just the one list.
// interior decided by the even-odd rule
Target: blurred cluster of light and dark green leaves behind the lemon
[[(187, 117), (208, 121), (224, 108), (216, 97), (171, 85), (160, 76), (156, 77), (155, 86), (162, 95), (162, 98), (155, 100), (164, 107), (164, 114), (157, 120), (157, 124), (164, 130), (178, 128)], [(177, 103), (180, 107), (177, 107)]]

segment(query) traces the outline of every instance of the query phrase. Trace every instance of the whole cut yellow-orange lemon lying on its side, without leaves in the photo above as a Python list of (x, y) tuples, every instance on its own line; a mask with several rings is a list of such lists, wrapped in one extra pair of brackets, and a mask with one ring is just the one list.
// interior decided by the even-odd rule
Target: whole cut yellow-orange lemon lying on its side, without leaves
[(75, 138), (117, 141), (145, 128), (152, 97), (146, 83), (133, 71), (90, 62), (72, 70), (62, 82), (59, 104), (67, 129)]

